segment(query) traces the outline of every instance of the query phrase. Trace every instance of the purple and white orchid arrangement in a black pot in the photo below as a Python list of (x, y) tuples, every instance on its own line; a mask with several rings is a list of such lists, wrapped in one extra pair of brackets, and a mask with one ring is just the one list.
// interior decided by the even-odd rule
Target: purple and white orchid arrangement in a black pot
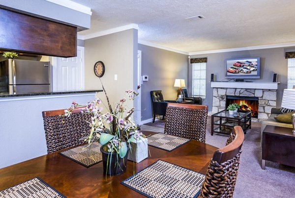
[[(91, 114), (92, 117), (89, 122), (89, 136), (84, 140), (89, 145), (99, 141), (102, 145), (104, 172), (113, 175), (125, 171), (130, 142), (140, 140), (145, 136), (137, 131), (137, 125), (131, 120), (134, 108), (127, 110), (126, 99), (120, 99), (112, 108), (106, 91), (103, 86), (102, 88), (108, 102), (108, 105), (105, 106), (107, 107), (106, 111), (102, 107), (102, 101), (96, 98), (82, 105), (72, 102), (72, 106), (65, 110), (64, 116), (70, 116), (71, 111), (77, 107), (86, 106), (83, 113)], [(126, 91), (126, 94), (129, 100), (133, 100), (138, 95), (134, 90)]]

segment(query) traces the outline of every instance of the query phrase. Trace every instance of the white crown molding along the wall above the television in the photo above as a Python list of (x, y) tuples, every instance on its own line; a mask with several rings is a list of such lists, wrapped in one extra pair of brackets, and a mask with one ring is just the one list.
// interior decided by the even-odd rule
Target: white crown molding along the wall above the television
[(284, 43), (284, 44), (273, 44), (273, 45), (264, 45), (264, 46), (252, 46), (244, 48), (231, 48), (231, 49), (217, 49), (217, 50), (208, 50), (208, 51), (196, 51), (189, 52), (189, 55), (199, 55), (207, 53), (222, 53), (230, 51), (244, 51), (244, 50), (254, 50), (254, 49), (270, 49), (270, 48), (285, 48), (285, 47), (294, 47), (295, 43)]

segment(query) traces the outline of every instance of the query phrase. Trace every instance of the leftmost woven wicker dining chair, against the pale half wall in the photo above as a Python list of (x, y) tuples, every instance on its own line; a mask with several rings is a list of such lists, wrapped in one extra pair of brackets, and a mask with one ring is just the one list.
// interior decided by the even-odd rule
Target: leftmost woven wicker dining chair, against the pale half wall
[(82, 109), (74, 109), (70, 117), (60, 116), (65, 109), (42, 112), (47, 153), (84, 142), (81, 138), (89, 135), (91, 115), (82, 113)]

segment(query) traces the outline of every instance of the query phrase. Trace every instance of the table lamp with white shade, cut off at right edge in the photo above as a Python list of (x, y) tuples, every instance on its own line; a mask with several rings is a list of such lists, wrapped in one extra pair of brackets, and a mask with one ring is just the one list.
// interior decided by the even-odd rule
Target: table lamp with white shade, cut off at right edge
[[(295, 89), (284, 89), (282, 105), (283, 108), (295, 109)], [(292, 115), (293, 133), (295, 133), (295, 112)]]

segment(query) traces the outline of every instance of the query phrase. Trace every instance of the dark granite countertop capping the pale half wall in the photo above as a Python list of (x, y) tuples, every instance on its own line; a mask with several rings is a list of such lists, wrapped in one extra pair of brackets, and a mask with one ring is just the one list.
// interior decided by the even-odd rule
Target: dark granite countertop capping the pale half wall
[(57, 94), (82, 94), (91, 92), (102, 92), (103, 90), (73, 90), (73, 91), (50, 91), (50, 92), (32, 92), (27, 94), (0, 94), (0, 98), (9, 97), (24, 97), (24, 96), (45, 96), (45, 95), (57, 95)]

